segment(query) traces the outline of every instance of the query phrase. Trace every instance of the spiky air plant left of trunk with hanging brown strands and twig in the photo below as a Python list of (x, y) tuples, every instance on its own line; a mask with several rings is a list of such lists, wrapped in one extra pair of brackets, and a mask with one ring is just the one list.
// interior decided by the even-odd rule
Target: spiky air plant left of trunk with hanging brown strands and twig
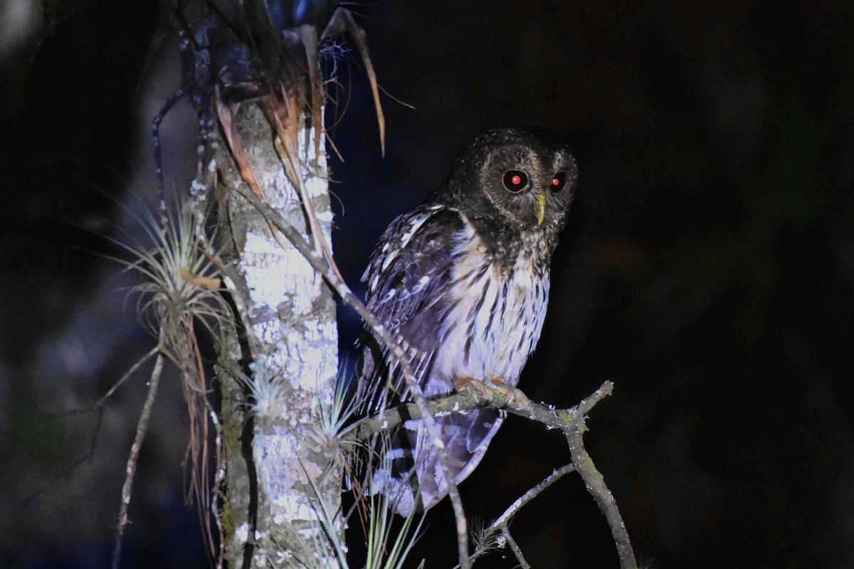
[[(196, 497), (200, 518), (205, 520), (203, 525), (208, 543), (213, 544), (213, 531), (207, 515), (211, 495), (208, 481), (208, 414), (213, 413), (213, 410), (208, 402), (208, 382), (196, 337), (196, 326), (201, 324), (214, 334), (217, 323), (230, 317), (229, 306), (221, 294), (222, 264), (218, 252), (211, 246), (212, 238), (204, 231), (207, 212), (202, 210), (201, 205), (192, 200), (177, 200), (174, 211), (164, 208), (159, 219), (151, 212), (134, 214), (133, 217), (142, 229), (144, 241), (129, 232), (126, 232), (127, 241), (111, 239), (128, 254), (126, 258), (112, 258), (142, 279), (142, 282), (130, 288), (128, 296), (137, 297), (137, 314), (143, 327), (158, 339), (155, 350), (159, 357), (155, 374), (149, 381), (149, 396), (137, 423), (137, 438), (128, 459), (114, 566), (118, 566), (133, 473), (160, 379), (162, 356), (172, 361), (183, 379), (184, 399), (190, 419), (187, 455), (192, 475), (188, 499)], [(213, 545), (211, 547), (213, 554)]]

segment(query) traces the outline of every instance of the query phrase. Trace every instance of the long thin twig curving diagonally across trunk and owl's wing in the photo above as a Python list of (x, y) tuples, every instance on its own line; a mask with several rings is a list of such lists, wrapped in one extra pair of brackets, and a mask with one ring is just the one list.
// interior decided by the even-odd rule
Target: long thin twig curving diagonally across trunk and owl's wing
[(377, 334), (377, 338), (383, 342), (383, 345), (385, 345), (401, 363), (404, 380), (406, 381), (409, 392), (412, 393), (412, 398), (421, 413), (420, 418), (424, 421), (424, 428), (430, 437), (430, 444), (436, 447), (437, 456), (439, 456), (439, 462), (442, 465), (442, 473), (444, 473), (445, 479), (447, 480), (447, 496), (453, 505), (453, 517), (457, 531), (459, 564), (462, 569), (470, 569), (471, 561), (469, 560), (468, 553), (468, 535), (465, 531), (466, 523), (463, 502), (459, 497), (459, 489), (457, 488), (456, 480), (454, 480), (453, 471), (447, 463), (447, 456), (442, 446), (442, 438), (440, 436), (439, 428), (436, 425), (436, 421), (433, 419), (433, 415), (430, 414), (430, 409), (428, 408), (427, 400), (424, 398), (424, 392), (421, 391), (421, 386), (418, 385), (418, 382), (412, 375), (412, 368), (409, 364), (409, 359), (407, 358), (406, 353), (403, 351), (401, 346), (397, 344), (395, 339), (392, 338), (388, 329), (386, 329), (383, 324), (377, 320), (377, 317), (374, 316), (371, 311), (367, 309), (366, 305), (364, 305), (353, 291), (350, 290), (347, 283), (343, 282), (343, 280), (336, 275), (336, 272), (331, 269), (327, 259), (319, 256), (314, 251), (313, 247), (308, 245), (307, 241), (303, 239), (301, 233), (295, 229), (294, 226), (285, 221), (282, 215), (272, 208), (272, 206), (261, 200), (257, 195), (243, 189), (240, 184), (237, 184), (235, 189), (238, 194), (242, 195), (245, 200), (249, 201), (249, 203), (261, 213), (261, 215), (272, 223), (276, 229), (284, 233), (284, 236), (288, 241), (290, 241), (296, 250), (306, 258), (308, 264), (311, 264), (312, 268), (316, 270), (319, 275), (325, 278), (330, 287), (332, 287), (341, 297), (344, 304), (353, 308), (354, 311), (356, 311), (356, 313), (365, 320), (367, 326), (373, 330), (374, 334)]

